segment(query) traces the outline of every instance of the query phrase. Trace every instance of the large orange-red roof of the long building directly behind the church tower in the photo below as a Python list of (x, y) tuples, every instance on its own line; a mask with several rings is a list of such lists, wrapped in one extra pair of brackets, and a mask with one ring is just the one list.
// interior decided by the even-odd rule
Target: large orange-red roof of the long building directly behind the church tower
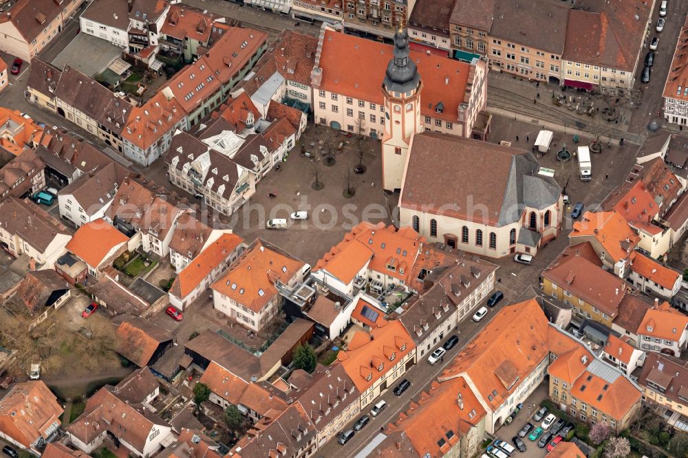
[[(393, 47), (385, 43), (336, 32), (330, 28), (321, 34), (320, 60), (322, 82), (318, 89), (383, 103), (380, 82), (385, 77), (385, 62), (392, 58)], [(411, 50), (423, 84), (421, 116), (458, 122), (460, 105), (473, 83), (471, 64), (434, 54)], [(438, 104), (444, 109), (436, 111)]]

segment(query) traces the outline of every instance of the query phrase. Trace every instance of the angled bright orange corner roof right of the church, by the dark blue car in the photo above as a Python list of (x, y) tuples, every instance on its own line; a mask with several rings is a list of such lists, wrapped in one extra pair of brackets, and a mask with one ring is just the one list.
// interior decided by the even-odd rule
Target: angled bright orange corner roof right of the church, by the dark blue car
[(583, 213), (581, 221), (573, 223), (573, 230), (568, 237), (572, 242), (577, 241), (574, 237), (596, 239), (612, 258), (612, 263), (626, 259), (640, 240), (616, 211)]

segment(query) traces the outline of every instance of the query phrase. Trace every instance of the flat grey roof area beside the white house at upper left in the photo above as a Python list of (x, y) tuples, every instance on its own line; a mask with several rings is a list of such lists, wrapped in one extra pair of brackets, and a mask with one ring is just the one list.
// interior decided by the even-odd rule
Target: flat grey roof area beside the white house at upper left
[[(78, 34), (52, 61), (52, 65), (63, 69), (65, 65), (78, 69), (86, 76), (94, 76), (105, 69), (122, 49), (108, 41), (88, 34)], [(88, 56), (88, 58), (84, 58)]]

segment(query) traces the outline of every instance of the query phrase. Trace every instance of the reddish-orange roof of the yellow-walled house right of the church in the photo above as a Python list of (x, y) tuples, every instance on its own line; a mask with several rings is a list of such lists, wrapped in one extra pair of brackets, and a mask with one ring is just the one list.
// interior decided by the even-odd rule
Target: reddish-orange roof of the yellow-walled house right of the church
[(577, 254), (562, 253), (542, 276), (612, 317), (626, 292), (622, 279)]

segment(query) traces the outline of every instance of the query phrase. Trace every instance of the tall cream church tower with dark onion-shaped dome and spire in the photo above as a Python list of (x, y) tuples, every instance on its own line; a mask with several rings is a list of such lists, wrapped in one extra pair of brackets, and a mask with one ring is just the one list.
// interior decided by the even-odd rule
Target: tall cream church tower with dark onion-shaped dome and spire
[(383, 135), (383, 188), (394, 191), (401, 181), (409, 154), (411, 135), (423, 131), (420, 118), (422, 83), (416, 63), (409, 58), (409, 34), (394, 34), (394, 57), (383, 80), (385, 134)]

